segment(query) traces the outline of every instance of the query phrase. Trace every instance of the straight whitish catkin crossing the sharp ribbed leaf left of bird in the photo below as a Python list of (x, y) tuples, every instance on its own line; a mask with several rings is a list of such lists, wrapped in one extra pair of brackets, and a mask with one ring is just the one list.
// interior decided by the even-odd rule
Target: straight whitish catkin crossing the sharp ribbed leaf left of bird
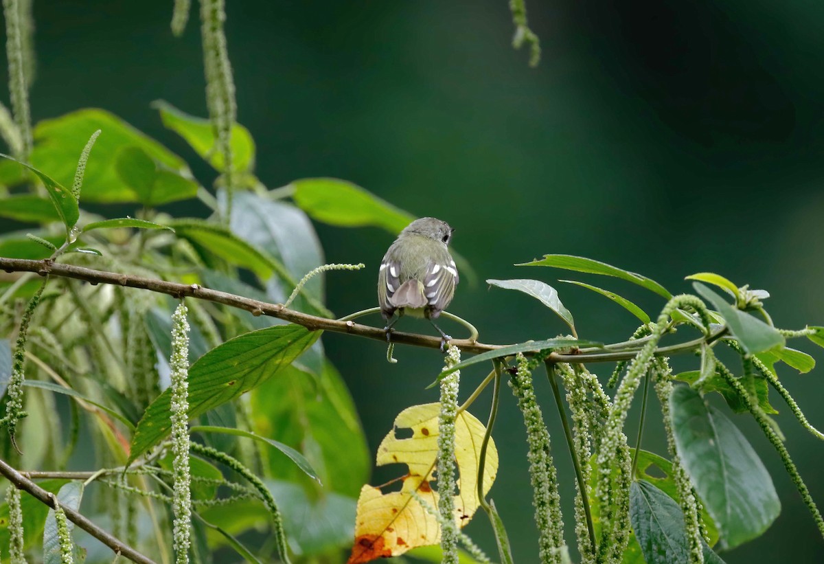
[(191, 477), (189, 469), (189, 322), (186, 306), (180, 303), (171, 317), (171, 450), (174, 455), (175, 514), (173, 543), (176, 564), (189, 562), (191, 509)]

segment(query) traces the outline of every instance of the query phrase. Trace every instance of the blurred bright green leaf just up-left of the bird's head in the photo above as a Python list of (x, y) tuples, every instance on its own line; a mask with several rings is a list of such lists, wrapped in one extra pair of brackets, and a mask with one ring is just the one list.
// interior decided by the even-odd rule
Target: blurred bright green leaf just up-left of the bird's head
[(312, 219), (338, 227), (374, 226), (400, 233), (414, 216), (360, 186), (337, 178), (293, 181), (295, 203)]

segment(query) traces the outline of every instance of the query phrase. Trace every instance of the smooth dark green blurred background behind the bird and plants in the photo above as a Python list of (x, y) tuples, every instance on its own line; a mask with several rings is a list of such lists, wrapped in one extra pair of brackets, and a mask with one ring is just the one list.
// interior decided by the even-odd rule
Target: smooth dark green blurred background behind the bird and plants
[[(171, 3), (35, 1), (32, 114), (40, 120), (80, 107), (110, 110), (186, 157), (208, 185), (213, 172), (198, 168), (199, 159), (149, 107), (162, 98), (207, 113), (197, 22), (173, 38)], [(532, 0), (530, 23), (543, 48), (534, 69), (527, 52), (510, 45), (505, 0), (227, 3), (238, 120), (255, 137), (261, 181), (274, 188), (336, 176), (413, 214), (452, 223), (454, 246), (480, 282), (461, 283), (451, 310), (475, 323), (483, 341), (564, 331), (540, 304), (488, 289), (486, 278), (554, 284), (583, 337), (620, 341), (633, 331), (634, 318), (606, 299), (555, 283), (569, 273), (513, 267), (549, 252), (635, 270), (673, 293), (691, 289), (685, 275), (716, 271), (768, 289), (768, 309), (781, 327), (824, 324), (820, 2)], [(328, 261), (368, 265), (330, 275), (330, 308), (343, 315), (374, 305), (377, 265), (391, 236), (317, 229)], [(619, 280), (588, 281), (650, 313), (663, 305)], [(372, 450), (404, 407), (435, 401), (437, 392), (424, 387), (442, 364), (437, 352), (400, 348), (400, 363), (390, 365), (378, 343), (324, 340)], [(824, 358), (806, 341), (798, 346)], [(676, 366), (690, 363), (695, 359)], [(822, 369), (780, 372), (819, 427)], [(598, 371), (606, 380), (611, 366)], [(466, 388), (484, 374), (466, 371)], [(569, 454), (549, 387), (541, 380), (537, 388), (572, 515)], [(517, 562), (536, 562), (522, 422), (504, 392), (494, 434), (502, 465), (491, 496)], [(824, 445), (772, 400), (790, 452), (824, 504)], [(652, 402), (644, 447), (665, 454), (657, 409)], [(474, 411), (485, 420), (485, 407)], [(732, 417), (770, 469), (783, 510), (762, 538), (723, 558), (820, 562), (824, 542), (780, 459), (747, 416)], [(574, 546), (571, 524), (567, 530)], [(469, 532), (494, 553), (485, 519)]]

